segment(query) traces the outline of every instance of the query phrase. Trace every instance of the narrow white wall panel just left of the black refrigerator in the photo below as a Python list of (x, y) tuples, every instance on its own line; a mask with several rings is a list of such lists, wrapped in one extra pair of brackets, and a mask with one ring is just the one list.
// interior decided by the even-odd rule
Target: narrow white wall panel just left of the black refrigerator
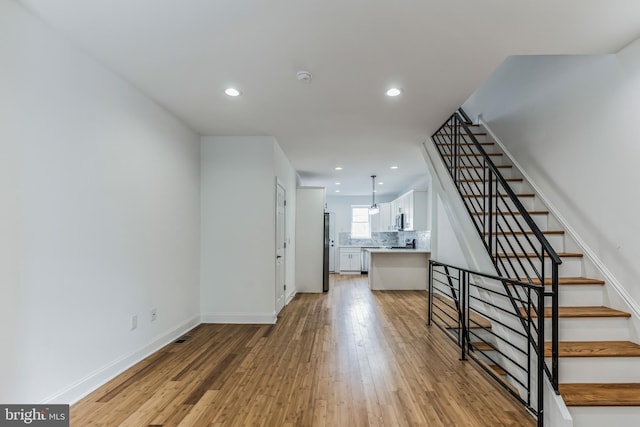
[(296, 289), (322, 292), (324, 261), (324, 187), (296, 191)]

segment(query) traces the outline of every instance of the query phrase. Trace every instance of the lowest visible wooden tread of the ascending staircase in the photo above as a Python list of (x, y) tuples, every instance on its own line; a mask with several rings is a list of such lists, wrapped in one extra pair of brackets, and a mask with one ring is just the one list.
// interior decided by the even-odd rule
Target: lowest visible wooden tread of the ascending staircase
[(560, 384), (567, 406), (640, 406), (638, 383)]

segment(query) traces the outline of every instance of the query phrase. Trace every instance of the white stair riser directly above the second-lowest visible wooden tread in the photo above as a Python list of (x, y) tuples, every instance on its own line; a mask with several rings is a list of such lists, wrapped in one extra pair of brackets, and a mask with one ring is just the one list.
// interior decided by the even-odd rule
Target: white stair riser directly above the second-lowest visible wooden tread
[[(629, 319), (626, 317), (579, 317), (559, 320), (560, 341), (626, 341)], [(551, 320), (545, 319), (545, 341), (551, 340)]]

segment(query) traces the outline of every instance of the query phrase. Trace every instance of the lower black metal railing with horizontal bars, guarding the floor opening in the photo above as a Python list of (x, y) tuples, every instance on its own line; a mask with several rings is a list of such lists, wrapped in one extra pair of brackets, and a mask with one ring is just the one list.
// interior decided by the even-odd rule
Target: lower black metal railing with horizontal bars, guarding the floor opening
[[(526, 296), (517, 300), (525, 308), (523, 312), (514, 313), (500, 304), (500, 300), (511, 298), (505, 292), (505, 282)], [(544, 307), (544, 287), (431, 260), (428, 307), (428, 324), (438, 326), (458, 344), (460, 359), (478, 362), (534, 413), (542, 426), (544, 318), (534, 312)]]

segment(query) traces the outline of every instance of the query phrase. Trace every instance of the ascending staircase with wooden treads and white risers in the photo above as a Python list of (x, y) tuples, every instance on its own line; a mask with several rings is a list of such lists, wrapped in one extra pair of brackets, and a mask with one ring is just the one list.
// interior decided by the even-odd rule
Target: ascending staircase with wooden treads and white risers
[[(630, 341), (634, 336), (631, 314), (607, 306), (607, 284), (597, 268), (485, 129), (471, 124), (464, 112), (456, 113), (432, 141), (499, 275), (545, 286), (544, 356), (549, 367), (557, 360), (555, 369), (549, 368), (548, 373), (557, 375), (557, 390), (574, 426), (640, 426), (640, 345)], [(488, 172), (489, 163), (502, 175), (502, 181)], [(505, 183), (509, 188), (503, 188)], [(520, 218), (522, 208), (535, 225)], [(539, 233), (553, 250), (538, 245)], [(561, 263), (554, 265), (556, 255)], [(555, 325), (550, 296), (554, 292)], [(540, 314), (527, 313), (522, 306), (519, 310), (523, 318)], [(549, 340), (556, 333), (557, 357), (553, 358)], [(493, 350), (486, 343), (478, 346)], [(471, 347), (482, 351), (473, 344)], [(496, 369), (502, 375), (501, 369)], [(553, 383), (554, 378), (551, 380)]]

